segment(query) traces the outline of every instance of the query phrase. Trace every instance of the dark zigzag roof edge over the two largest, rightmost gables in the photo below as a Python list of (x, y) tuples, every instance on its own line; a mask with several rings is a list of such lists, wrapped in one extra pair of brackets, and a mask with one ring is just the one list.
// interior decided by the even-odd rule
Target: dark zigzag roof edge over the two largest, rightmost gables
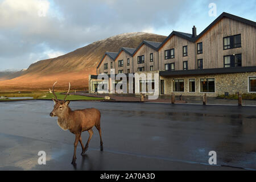
[(201, 38), (201, 36), (203, 36), (205, 34), (205, 32), (207, 32), (210, 28), (212, 28), (216, 23), (218, 23), (222, 18), (230, 18), (233, 20), (236, 20), (238, 22), (242, 22), (242, 23), (246, 23), (249, 24), (250, 26), (256, 27), (256, 22), (253, 22), (251, 20), (245, 19), (245, 18), (241, 18), (240, 16), (236, 16), (236, 15), (232, 15), (229, 13), (222, 13), (220, 16), (218, 16), (218, 18), (216, 18), (207, 28), (205, 28), (199, 35), (197, 35), (195, 38), (192, 38), (192, 34), (187, 34), (184, 32), (178, 32), (178, 31), (172, 31), (171, 34), (164, 39), (164, 41), (162, 42), (162, 44), (158, 47), (158, 50), (173, 36), (179, 36), (180, 38), (186, 39), (190, 42), (196, 42), (198, 39)]

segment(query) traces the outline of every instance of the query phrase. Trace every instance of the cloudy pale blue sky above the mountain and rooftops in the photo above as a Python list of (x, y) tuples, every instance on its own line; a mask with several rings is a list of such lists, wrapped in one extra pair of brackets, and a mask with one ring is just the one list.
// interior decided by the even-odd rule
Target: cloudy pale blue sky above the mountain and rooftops
[(222, 12), (256, 20), (256, 0), (0, 0), (0, 71), (26, 69), (127, 32), (200, 34)]

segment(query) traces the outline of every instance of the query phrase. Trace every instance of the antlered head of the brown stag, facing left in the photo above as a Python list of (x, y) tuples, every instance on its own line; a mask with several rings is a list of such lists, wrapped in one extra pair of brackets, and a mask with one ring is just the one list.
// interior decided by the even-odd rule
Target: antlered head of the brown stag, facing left
[(67, 113), (67, 111), (69, 110), (69, 102), (70, 101), (66, 101), (65, 99), (67, 98), (68, 96), (68, 93), (69, 93), (69, 90), (70, 90), (70, 83), (69, 83), (69, 88), (68, 88), (68, 92), (66, 94), (66, 96), (64, 97), (64, 100), (61, 101), (61, 100), (58, 100), (57, 99), (57, 96), (54, 92), (54, 86), (55, 84), (57, 83), (57, 81), (53, 84), (52, 86), (52, 94), (53, 96), (55, 96), (55, 98), (52, 98), (53, 102), (54, 102), (54, 108), (53, 110), (51, 111), (51, 113), (49, 114), (51, 117), (59, 117), (59, 118), (63, 118), (65, 116), (65, 114)]

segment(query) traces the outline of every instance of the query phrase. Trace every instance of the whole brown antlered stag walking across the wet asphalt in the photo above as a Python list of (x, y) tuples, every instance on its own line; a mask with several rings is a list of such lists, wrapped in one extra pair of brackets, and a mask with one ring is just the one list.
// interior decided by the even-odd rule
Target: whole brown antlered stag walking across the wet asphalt
[[(72, 160), (72, 164), (75, 164), (77, 144), (78, 142), (80, 142), (82, 147), (81, 155), (84, 155), (85, 151), (88, 148), (90, 139), (92, 138), (92, 135), (93, 135), (93, 130), (92, 130), (93, 126), (95, 126), (96, 129), (98, 130), (98, 133), (100, 133), (100, 139), (101, 139), (101, 126), (100, 126), (101, 113), (98, 109), (94, 109), (94, 108), (74, 110), (74, 111), (71, 110), (68, 106), (70, 101), (65, 100), (70, 90), (70, 83), (69, 83), (68, 92), (63, 101), (57, 100), (57, 96), (54, 92), (54, 86), (56, 83), (57, 82), (55, 82), (52, 86), (52, 94), (55, 96), (55, 98), (52, 98), (52, 100), (55, 105), (54, 105), (54, 109), (49, 115), (51, 117), (55, 117), (55, 116), (58, 117), (57, 123), (61, 127), (61, 129), (69, 130), (71, 133), (76, 135), (76, 139), (74, 143), (74, 155)], [(81, 137), (82, 131), (88, 131), (89, 133), (89, 138), (87, 140), (85, 147), (82, 144), (82, 137)], [(102, 151), (103, 150), (102, 139), (100, 144), (101, 144), (101, 151)]]

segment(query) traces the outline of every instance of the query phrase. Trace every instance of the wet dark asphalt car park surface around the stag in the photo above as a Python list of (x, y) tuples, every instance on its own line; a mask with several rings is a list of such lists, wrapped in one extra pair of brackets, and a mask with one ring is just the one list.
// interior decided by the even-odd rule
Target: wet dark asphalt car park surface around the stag
[[(0, 170), (256, 170), (256, 107), (72, 101), (101, 111), (86, 155), (49, 117), (52, 101), (0, 103)], [(85, 144), (89, 134), (82, 133)], [(46, 164), (38, 164), (38, 152)], [(208, 163), (216, 151), (217, 165)]]

